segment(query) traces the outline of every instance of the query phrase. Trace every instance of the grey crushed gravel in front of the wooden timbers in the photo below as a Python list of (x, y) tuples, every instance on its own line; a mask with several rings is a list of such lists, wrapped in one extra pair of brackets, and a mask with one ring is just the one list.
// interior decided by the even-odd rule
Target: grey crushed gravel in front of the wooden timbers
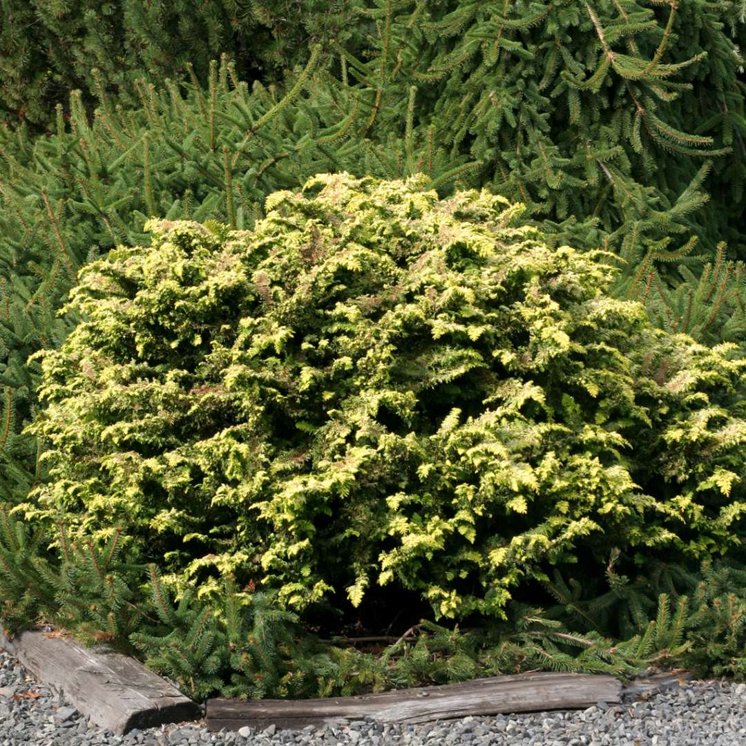
[(101, 730), (0, 652), (0, 746), (738, 746), (746, 745), (746, 684), (698, 681), (624, 706), (495, 715), (419, 726), (354, 721), (304, 730), (210, 733), (204, 722), (115, 736)]

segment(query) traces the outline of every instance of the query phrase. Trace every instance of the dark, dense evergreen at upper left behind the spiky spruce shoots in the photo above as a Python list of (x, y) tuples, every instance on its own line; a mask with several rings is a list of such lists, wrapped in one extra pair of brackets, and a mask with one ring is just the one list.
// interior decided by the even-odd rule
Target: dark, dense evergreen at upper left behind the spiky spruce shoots
[(228, 54), (239, 75), (270, 82), (305, 63), (314, 40), (347, 42), (360, 0), (2, 0), (0, 122), (54, 124), (54, 104), (101, 87), (133, 102), (145, 75), (163, 84), (192, 69), (207, 84), (210, 60)]

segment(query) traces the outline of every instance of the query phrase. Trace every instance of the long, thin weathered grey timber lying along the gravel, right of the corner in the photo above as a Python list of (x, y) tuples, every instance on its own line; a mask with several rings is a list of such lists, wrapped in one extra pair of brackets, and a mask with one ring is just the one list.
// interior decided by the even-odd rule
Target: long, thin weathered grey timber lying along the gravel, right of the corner
[(382, 723), (425, 723), (467, 715), (584, 709), (620, 702), (621, 683), (597, 674), (518, 674), (458, 684), (398, 689), (374, 695), (308, 700), (207, 700), (210, 730), (243, 726), (303, 728), (369, 718)]

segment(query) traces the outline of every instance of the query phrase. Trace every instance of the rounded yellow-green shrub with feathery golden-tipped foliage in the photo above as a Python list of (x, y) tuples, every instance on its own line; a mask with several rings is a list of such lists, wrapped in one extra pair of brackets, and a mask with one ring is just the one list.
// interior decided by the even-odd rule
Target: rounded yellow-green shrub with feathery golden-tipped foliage
[[(152, 221), (86, 266), (37, 353), (52, 535), (286, 609), (375, 584), (504, 617), (578, 554), (740, 554), (746, 363), (606, 295), (601, 257), (487, 192), (319, 175), (252, 231)], [(33, 357), (32, 357), (33, 359)], [(574, 571), (578, 576), (577, 570)]]

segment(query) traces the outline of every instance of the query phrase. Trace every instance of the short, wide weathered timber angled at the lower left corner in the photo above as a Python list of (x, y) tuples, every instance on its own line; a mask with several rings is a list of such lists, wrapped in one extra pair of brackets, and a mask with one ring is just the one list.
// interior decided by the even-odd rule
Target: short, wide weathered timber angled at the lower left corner
[(8, 637), (0, 648), (38, 683), (60, 692), (98, 727), (121, 736), (133, 728), (198, 720), (200, 706), (142, 663), (106, 648), (84, 648), (69, 637), (35, 630)]

